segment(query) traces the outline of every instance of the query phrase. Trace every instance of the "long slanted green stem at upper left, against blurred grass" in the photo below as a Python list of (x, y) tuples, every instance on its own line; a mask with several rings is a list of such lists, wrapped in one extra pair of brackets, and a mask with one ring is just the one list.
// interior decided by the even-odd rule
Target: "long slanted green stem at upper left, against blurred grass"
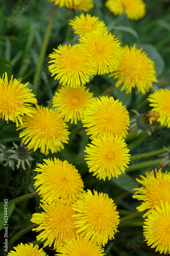
[(50, 37), (50, 33), (51, 33), (51, 30), (52, 30), (52, 25), (53, 25), (56, 10), (57, 10), (57, 5), (53, 9), (53, 12), (52, 12), (51, 18), (49, 20), (48, 26), (46, 28), (44, 39), (43, 39), (43, 42), (42, 42), (40, 55), (39, 55), (39, 59), (38, 59), (38, 64), (37, 64), (37, 67), (36, 67), (36, 72), (35, 72), (34, 81), (33, 81), (33, 93), (34, 94), (37, 93), (41, 67), (42, 67), (42, 63), (43, 63), (43, 60), (44, 60), (44, 56), (45, 56), (45, 52), (46, 52), (46, 48), (47, 48), (47, 44), (48, 44), (48, 39)]

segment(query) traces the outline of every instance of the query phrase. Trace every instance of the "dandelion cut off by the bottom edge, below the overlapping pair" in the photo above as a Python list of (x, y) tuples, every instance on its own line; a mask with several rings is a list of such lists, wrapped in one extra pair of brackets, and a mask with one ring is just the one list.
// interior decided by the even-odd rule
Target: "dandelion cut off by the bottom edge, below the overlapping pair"
[(84, 236), (80, 236), (77, 234), (76, 237), (72, 237), (67, 240), (67, 243), (62, 246), (59, 250), (63, 256), (82, 256), (82, 255), (90, 255), (90, 256), (102, 256), (105, 255), (104, 249), (101, 246), (96, 245), (91, 240), (87, 240)]

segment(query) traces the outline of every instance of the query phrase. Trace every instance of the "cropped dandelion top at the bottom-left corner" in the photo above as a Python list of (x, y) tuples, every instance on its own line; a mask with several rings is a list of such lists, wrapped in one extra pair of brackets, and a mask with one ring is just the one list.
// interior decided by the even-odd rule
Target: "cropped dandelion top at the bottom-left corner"
[(33, 244), (18, 244), (18, 246), (13, 247), (15, 251), (8, 252), (8, 256), (47, 256), (43, 249), (38, 249), (38, 245), (33, 247)]

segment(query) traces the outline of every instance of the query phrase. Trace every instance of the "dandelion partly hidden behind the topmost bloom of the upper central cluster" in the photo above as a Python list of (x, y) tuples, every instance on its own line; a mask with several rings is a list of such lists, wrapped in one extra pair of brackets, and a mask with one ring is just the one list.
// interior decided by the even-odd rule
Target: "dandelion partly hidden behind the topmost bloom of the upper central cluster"
[(107, 27), (105, 23), (99, 20), (99, 17), (91, 16), (90, 14), (84, 15), (82, 13), (79, 17), (76, 16), (75, 19), (69, 20), (69, 25), (72, 26), (75, 33), (78, 35), (84, 35), (92, 30), (100, 30), (102, 32), (107, 32)]

